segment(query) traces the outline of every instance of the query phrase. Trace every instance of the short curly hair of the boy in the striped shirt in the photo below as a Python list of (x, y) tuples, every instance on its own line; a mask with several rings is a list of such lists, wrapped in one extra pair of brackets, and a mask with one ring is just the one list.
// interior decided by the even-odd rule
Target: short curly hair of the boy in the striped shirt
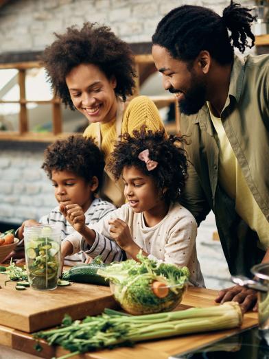
[(41, 168), (50, 179), (53, 170), (69, 171), (84, 178), (87, 183), (91, 183), (93, 176), (96, 176), (98, 188), (102, 186), (104, 155), (91, 137), (72, 135), (67, 139), (59, 139), (47, 146), (44, 154), (45, 161)]

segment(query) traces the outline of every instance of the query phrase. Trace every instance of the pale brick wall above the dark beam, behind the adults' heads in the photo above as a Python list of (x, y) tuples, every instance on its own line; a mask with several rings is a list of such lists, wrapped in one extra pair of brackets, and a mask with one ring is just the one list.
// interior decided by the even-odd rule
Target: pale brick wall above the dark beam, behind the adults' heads
[[(243, 1), (239, 1), (242, 2)], [(38, 51), (54, 40), (53, 32), (97, 21), (110, 25), (130, 43), (150, 41), (161, 18), (183, 4), (212, 8), (219, 14), (230, 0), (16, 0), (0, 8), (0, 54)], [(253, 5), (246, 0), (244, 5)]]

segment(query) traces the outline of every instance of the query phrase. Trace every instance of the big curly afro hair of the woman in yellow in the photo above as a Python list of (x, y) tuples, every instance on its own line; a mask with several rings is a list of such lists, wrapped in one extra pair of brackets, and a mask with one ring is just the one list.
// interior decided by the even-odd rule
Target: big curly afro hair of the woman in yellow
[(74, 110), (65, 78), (81, 64), (93, 64), (110, 80), (115, 76), (116, 95), (126, 100), (134, 87), (134, 59), (127, 43), (107, 26), (84, 23), (81, 30), (75, 25), (67, 27), (65, 34), (55, 34), (57, 40), (45, 48), (40, 59), (47, 70), (47, 79), (62, 102)]

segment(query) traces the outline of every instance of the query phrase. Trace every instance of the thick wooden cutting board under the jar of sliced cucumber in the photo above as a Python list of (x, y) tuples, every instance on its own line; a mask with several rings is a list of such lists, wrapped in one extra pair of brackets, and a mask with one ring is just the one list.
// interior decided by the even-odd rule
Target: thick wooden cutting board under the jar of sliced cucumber
[(104, 308), (117, 308), (108, 287), (73, 283), (55, 290), (32, 288), (16, 290), (16, 282), (4, 282), (0, 274), (0, 325), (32, 333), (61, 323), (65, 314), (72, 319), (100, 314)]

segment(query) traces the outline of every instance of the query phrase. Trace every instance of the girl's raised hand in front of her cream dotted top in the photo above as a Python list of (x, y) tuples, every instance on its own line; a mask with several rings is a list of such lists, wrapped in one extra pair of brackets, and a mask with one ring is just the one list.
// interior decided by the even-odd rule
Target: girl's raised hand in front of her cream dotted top
[(128, 224), (119, 218), (109, 220), (108, 224), (110, 224), (110, 235), (113, 240), (115, 240), (124, 251), (130, 251), (130, 248), (134, 245), (134, 241), (132, 240)]

